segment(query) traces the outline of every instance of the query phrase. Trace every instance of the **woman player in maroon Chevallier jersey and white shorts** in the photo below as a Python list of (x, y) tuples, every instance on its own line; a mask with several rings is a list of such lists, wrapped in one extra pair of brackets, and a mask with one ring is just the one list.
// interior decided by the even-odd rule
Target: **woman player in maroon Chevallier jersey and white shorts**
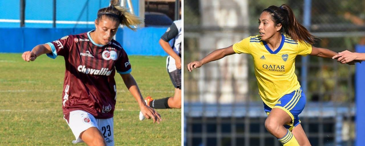
[(114, 39), (120, 24), (132, 28), (141, 24), (137, 16), (111, 0), (110, 7), (101, 8), (95, 30), (68, 35), (53, 42), (35, 46), (23, 53), (24, 61), (34, 61), (47, 54), (65, 58), (65, 81), (62, 93), (64, 119), (76, 140), (88, 145), (114, 145), (113, 114), (116, 103), (114, 75), (118, 72), (138, 101), (146, 118), (160, 123), (161, 116), (146, 105), (131, 72), (131, 64), (123, 48)]

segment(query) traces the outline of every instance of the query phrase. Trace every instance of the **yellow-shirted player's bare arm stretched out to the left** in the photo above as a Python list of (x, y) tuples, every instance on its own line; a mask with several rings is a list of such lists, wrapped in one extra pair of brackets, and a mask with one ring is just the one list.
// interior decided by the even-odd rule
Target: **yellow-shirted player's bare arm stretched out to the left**
[(215, 50), (199, 61), (190, 62), (187, 65), (187, 68), (188, 68), (189, 72), (191, 72), (193, 70), (193, 68), (200, 68), (202, 65), (204, 65), (208, 62), (222, 59), (223, 57), (232, 55), (232, 54), (235, 54), (235, 52), (233, 51), (233, 45), (226, 47), (226, 48)]

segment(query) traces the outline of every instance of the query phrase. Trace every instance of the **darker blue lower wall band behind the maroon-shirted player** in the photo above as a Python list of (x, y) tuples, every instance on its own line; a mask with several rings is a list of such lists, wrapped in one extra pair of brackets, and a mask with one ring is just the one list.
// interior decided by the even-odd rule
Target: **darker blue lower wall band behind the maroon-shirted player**
[[(167, 28), (146, 27), (132, 31), (128, 28), (119, 29), (116, 34), (118, 41), (128, 55), (161, 55), (167, 53), (158, 40)], [(1, 53), (23, 53), (38, 44), (54, 41), (70, 34), (80, 34), (92, 28), (0, 28)]]

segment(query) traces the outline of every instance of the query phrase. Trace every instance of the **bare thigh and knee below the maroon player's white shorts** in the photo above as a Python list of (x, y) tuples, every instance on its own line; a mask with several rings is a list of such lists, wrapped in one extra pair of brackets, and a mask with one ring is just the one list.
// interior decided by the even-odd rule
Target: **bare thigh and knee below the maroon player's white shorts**
[(106, 146), (105, 140), (101, 132), (96, 127), (90, 127), (81, 132), (80, 138), (89, 146)]

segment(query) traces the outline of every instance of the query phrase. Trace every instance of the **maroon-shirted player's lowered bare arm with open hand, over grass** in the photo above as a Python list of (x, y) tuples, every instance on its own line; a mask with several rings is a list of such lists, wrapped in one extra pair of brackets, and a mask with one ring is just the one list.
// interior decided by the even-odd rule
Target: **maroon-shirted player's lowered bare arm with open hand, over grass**
[(153, 123), (157, 121), (157, 123), (160, 123), (161, 116), (156, 112), (153, 108), (146, 105), (145, 101), (143, 100), (142, 94), (139, 91), (137, 82), (134, 80), (133, 76), (128, 74), (120, 74), (122, 76), (124, 84), (126, 84), (126, 87), (128, 88), (129, 92), (133, 95), (133, 97), (137, 100), (139, 107), (141, 108), (141, 112), (147, 119), (152, 118)]

